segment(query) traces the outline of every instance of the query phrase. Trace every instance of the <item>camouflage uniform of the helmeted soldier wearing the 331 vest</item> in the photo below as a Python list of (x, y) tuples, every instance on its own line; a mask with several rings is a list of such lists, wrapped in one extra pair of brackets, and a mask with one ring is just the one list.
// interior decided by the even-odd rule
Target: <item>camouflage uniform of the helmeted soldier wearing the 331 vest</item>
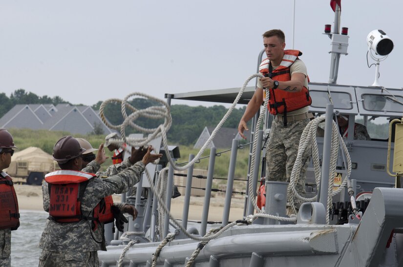
[[(89, 164), (94, 164), (93, 162)], [(102, 198), (127, 192), (139, 181), (144, 169), (145, 166), (140, 161), (117, 175), (105, 179), (98, 177), (90, 179), (81, 204), (83, 214), (92, 215), (92, 210)], [(42, 184), (42, 193), (43, 209), (49, 211), (47, 182)], [(39, 247), (42, 248), (39, 266), (99, 266), (97, 250), (106, 250), (104, 227), (102, 223), (98, 223), (95, 231), (92, 231), (91, 227), (91, 222), (86, 220), (77, 223), (57, 223), (47, 220), (39, 243)]]

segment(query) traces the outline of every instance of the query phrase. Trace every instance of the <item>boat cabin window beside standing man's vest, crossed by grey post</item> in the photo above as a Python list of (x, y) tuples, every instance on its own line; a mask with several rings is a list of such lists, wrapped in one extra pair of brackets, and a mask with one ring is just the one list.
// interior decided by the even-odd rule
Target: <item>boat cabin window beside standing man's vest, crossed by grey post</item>
[[(327, 104), (331, 104), (327, 92), (309, 90), (309, 94), (312, 97), (311, 107), (314, 108), (326, 108)], [(352, 110), (353, 104), (351, 100), (351, 94), (346, 92), (331, 92), (334, 109)]]

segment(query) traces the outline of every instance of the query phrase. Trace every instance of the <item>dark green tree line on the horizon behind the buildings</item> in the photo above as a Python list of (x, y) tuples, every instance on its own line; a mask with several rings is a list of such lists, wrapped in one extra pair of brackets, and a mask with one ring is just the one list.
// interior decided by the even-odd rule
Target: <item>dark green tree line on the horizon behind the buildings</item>
[[(53, 104), (68, 103), (70, 105), (80, 106), (82, 104), (71, 104), (64, 101), (61, 97), (55, 96), (53, 98), (44, 95), (38, 96), (32, 92), (27, 92), (24, 89), (15, 90), (11, 93), (10, 97), (7, 97), (5, 93), (0, 93), (0, 117), (11, 110), (17, 104)], [(92, 105), (91, 107), (98, 111), (102, 101)], [(135, 109), (145, 109), (151, 106), (160, 106), (160, 103), (156, 103), (152, 100), (145, 98), (135, 98), (129, 101)], [(237, 128), (240, 118), (242, 117), (245, 106), (234, 109), (231, 116), (224, 123), (223, 127)], [(171, 144), (180, 145), (193, 145), (204, 127), (215, 127), (224, 114), (227, 112), (227, 108), (224, 106), (212, 106), (212, 107), (191, 107), (187, 105), (172, 105), (170, 112), (172, 116), (172, 125), (168, 132), (168, 140)], [(127, 109), (127, 114), (131, 114)], [(106, 118), (113, 125), (119, 125), (123, 122), (123, 116), (121, 113), (120, 103), (107, 104), (104, 110)], [(158, 125), (163, 124), (163, 120), (149, 119), (146, 117), (139, 117), (135, 121), (136, 124), (145, 128), (156, 128)], [(127, 134), (136, 133), (131, 127), (126, 129)]]

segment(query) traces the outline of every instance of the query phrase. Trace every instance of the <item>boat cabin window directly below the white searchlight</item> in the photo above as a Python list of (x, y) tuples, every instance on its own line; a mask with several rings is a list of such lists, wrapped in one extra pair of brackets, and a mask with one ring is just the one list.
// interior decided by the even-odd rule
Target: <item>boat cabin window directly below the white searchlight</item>
[(403, 97), (363, 94), (363, 107), (367, 111), (403, 112)]

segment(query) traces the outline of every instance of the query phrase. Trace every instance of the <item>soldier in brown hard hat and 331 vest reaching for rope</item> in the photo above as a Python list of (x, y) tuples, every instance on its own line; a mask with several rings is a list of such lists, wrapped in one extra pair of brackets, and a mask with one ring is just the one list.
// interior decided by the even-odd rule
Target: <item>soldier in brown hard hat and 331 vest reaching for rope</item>
[[(43, 208), (50, 216), (39, 243), (40, 267), (99, 266), (97, 250), (106, 250), (102, 200), (127, 192), (140, 180), (145, 166), (162, 156), (151, 154), (150, 146), (141, 161), (100, 179), (80, 171), (85, 151), (72, 136), (62, 137), (53, 148), (53, 158), (62, 170), (47, 174), (42, 184)], [(102, 164), (105, 160), (101, 144), (95, 161)]]

